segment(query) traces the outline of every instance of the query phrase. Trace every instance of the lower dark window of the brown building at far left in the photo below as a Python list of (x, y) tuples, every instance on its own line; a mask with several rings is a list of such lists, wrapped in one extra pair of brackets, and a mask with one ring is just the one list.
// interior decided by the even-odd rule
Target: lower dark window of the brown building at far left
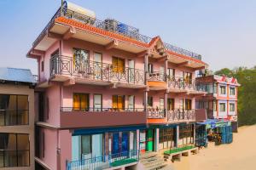
[(0, 150), (0, 167), (29, 166), (28, 134), (0, 133)]

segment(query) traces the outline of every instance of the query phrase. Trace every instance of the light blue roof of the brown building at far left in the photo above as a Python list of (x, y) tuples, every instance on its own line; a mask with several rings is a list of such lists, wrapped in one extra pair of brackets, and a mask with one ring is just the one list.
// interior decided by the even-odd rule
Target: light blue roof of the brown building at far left
[(0, 67), (0, 81), (36, 83), (30, 70), (9, 67)]

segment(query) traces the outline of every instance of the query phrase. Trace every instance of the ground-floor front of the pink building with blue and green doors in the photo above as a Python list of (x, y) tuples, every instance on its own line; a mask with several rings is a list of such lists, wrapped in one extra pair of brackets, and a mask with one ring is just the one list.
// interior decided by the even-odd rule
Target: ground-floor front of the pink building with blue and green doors
[(71, 138), (67, 169), (102, 169), (136, 163), (145, 152), (194, 145), (195, 123), (76, 129)]

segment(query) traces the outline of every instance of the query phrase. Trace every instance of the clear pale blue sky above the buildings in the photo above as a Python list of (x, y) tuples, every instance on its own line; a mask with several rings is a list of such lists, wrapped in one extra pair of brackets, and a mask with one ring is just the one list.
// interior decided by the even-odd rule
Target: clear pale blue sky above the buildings
[[(210, 69), (256, 65), (255, 0), (71, 0), (96, 17), (122, 21), (143, 35), (202, 55)], [(27, 51), (61, 0), (0, 0), (0, 67), (29, 68)]]

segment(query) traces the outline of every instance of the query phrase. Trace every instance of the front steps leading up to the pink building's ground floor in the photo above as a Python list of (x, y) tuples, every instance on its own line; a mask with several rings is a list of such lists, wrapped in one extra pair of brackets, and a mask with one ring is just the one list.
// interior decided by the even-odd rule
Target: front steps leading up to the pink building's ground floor
[(140, 155), (139, 169), (143, 170), (172, 170), (172, 166), (156, 152), (147, 152)]

